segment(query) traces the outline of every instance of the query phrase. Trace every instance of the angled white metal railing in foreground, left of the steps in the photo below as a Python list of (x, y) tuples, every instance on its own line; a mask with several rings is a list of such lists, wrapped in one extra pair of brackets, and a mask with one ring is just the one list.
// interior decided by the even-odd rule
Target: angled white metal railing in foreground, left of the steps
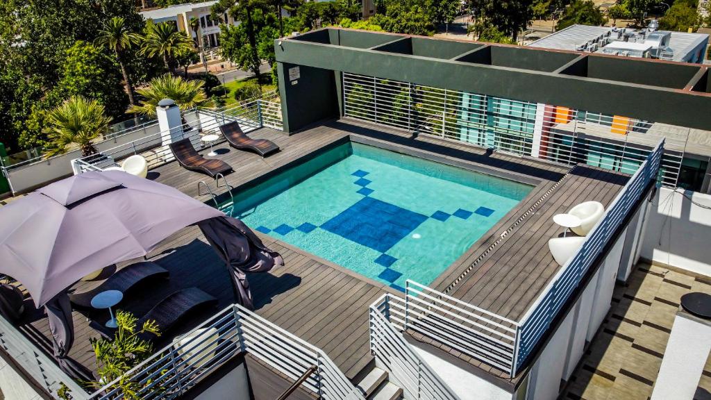
[(316, 366), (302, 388), (326, 400), (364, 400), (321, 350), (240, 305), (230, 305), (173, 344), (141, 362), (91, 399), (122, 399), (132, 384), (141, 399), (175, 399), (240, 353), (248, 353), (292, 380)]

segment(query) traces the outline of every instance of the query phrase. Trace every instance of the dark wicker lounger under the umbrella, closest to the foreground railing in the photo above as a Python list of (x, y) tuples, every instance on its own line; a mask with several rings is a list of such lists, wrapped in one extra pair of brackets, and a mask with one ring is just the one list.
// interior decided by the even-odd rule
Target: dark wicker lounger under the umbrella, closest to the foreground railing
[[(178, 290), (156, 304), (146, 315), (139, 318), (137, 327), (142, 327), (144, 322), (154, 320), (158, 324), (158, 330), (163, 335), (169, 332), (173, 325), (189, 312), (200, 307), (215, 307), (218, 299), (208, 295), (198, 288), (187, 288)], [(152, 334), (141, 335), (144, 340), (154, 339)]]

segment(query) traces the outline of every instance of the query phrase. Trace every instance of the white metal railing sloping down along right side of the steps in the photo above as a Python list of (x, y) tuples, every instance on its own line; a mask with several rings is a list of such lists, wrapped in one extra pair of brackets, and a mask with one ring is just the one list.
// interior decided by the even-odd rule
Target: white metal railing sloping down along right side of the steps
[[(402, 388), (405, 400), (458, 400), (447, 384), (415, 353), (395, 326), (402, 327), (405, 301), (389, 293), (370, 306), (370, 352)], [(396, 316), (397, 315), (397, 316)]]

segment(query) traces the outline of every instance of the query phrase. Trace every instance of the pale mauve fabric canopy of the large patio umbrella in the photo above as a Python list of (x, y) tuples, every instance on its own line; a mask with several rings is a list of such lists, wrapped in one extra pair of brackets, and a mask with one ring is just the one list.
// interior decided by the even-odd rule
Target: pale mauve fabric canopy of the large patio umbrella
[(224, 215), (126, 172), (86, 172), (0, 208), (0, 273), (20, 281), (40, 307), (88, 273)]

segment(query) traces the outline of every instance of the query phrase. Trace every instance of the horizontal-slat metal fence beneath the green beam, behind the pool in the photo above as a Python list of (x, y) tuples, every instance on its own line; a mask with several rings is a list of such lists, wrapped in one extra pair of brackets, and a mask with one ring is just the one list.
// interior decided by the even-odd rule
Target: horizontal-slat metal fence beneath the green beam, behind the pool
[(667, 138), (665, 186), (677, 184), (690, 128), (373, 76), (343, 74), (344, 114), (518, 156), (634, 174)]

